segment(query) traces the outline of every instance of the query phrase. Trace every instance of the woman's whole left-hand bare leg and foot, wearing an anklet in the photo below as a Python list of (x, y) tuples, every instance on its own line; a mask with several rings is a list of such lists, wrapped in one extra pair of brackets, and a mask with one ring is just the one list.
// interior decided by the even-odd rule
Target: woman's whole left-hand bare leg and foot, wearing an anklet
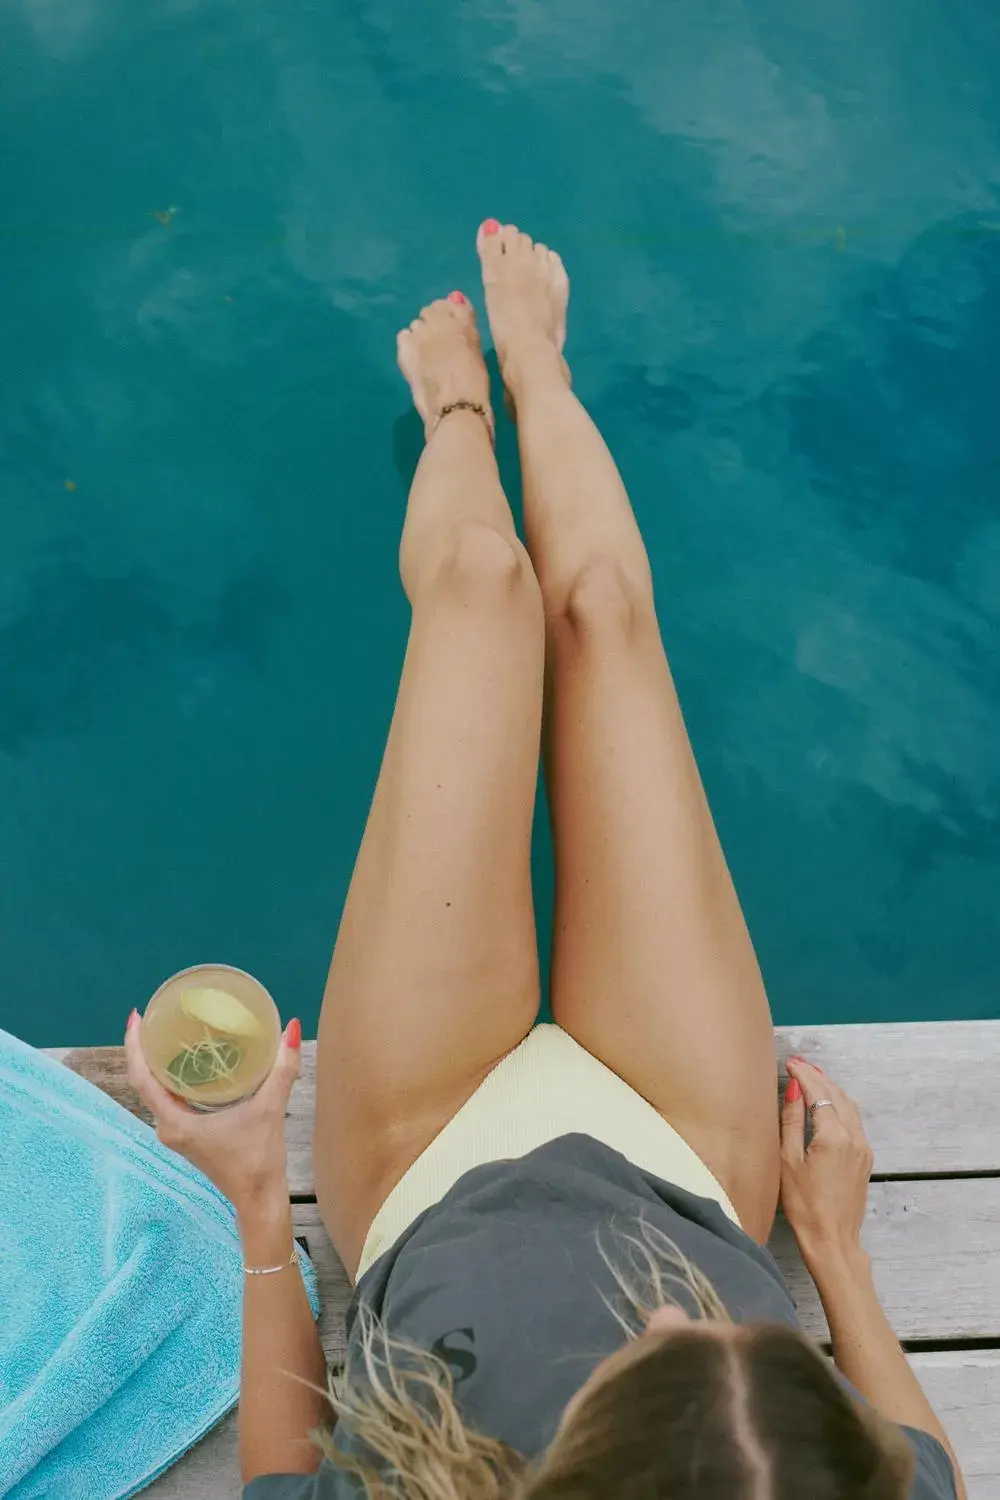
[[(465, 303), (424, 309), (399, 363), (429, 424), (489, 402)], [(541, 598), (475, 412), (427, 441), (400, 573), (412, 626), (316, 1056), (316, 1192), (351, 1274), (385, 1196), (538, 1010)]]

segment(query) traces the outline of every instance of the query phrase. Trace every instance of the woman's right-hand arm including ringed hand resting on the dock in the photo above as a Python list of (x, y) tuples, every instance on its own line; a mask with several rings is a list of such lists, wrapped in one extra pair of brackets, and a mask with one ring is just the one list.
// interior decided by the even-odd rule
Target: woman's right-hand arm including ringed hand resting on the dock
[[(792, 1082), (781, 1116), (781, 1204), (820, 1294), (834, 1362), (880, 1416), (943, 1444), (966, 1500), (955, 1450), (900, 1348), (861, 1245), (873, 1158), (858, 1107), (820, 1068), (801, 1058), (786, 1066)], [(813, 1114), (807, 1149), (807, 1107), (817, 1100), (832, 1104)]]

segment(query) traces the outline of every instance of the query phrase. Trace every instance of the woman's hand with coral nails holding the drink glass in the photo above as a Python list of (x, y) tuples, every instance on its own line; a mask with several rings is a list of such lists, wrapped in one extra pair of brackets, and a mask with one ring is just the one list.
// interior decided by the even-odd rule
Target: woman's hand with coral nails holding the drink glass
[(289, 1022), (270, 1074), (241, 1104), (214, 1113), (190, 1108), (150, 1071), (139, 1044), (139, 1016), (132, 1011), (124, 1034), (129, 1080), (156, 1124), (156, 1134), (214, 1182), (238, 1215), (273, 1202), (288, 1204), (285, 1112), (298, 1077), (301, 1028)]

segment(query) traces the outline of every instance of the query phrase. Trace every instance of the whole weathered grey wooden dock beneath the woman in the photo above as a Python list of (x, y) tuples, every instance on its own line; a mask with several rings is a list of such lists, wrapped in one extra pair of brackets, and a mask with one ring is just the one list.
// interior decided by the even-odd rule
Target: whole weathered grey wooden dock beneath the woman
[[(963, 1460), (970, 1500), (1000, 1496), (1000, 1022), (781, 1028), (781, 1058), (819, 1062), (859, 1102), (876, 1152), (867, 1245), (897, 1334)], [(120, 1047), (54, 1056), (144, 1114)], [(312, 1172), (315, 1044), (289, 1113), (297, 1232), (316, 1262), (331, 1362), (343, 1356), (348, 1280), (319, 1221)], [(823, 1312), (781, 1222), (772, 1250), (804, 1326)], [(163, 1474), (151, 1500), (238, 1500), (235, 1419)]]

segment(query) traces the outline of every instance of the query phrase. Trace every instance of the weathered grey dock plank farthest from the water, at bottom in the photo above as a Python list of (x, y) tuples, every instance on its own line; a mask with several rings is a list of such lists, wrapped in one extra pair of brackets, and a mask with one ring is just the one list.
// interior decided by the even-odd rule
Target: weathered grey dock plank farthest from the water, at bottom
[[(969, 1500), (1000, 1496), (1000, 1350), (915, 1354), (910, 1360), (961, 1461)], [(210, 1432), (144, 1491), (153, 1500), (240, 1500), (235, 1418)]]

